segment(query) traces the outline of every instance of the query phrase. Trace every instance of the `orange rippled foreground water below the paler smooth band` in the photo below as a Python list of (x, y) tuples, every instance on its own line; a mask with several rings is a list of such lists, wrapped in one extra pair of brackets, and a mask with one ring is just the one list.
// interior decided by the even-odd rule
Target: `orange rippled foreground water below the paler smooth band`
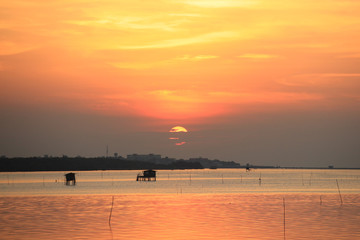
[[(2, 239), (282, 239), (279, 194), (2, 197)], [(286, 194), (287, 239), (360, 237), (360, 196)]]

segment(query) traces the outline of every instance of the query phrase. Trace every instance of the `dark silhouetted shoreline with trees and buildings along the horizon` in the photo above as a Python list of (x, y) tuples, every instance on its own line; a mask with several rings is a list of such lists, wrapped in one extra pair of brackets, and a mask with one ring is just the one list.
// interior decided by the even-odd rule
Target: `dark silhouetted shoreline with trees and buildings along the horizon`
[(208, 159), (168, 160), (161, 163), (151, 160), (136, 160), (114, 157), (25, 157), (0, 158), (0, 172), (37, 172), (37, 171), (105, 171), (105, 170), (181, 170), (181, 169), (329, 169), (329, 170), (358, 170), (360, 168), (325, 168), (325, 167), (280, 167), (280, 166), (242, 166), (239, 163), (224, 162)]

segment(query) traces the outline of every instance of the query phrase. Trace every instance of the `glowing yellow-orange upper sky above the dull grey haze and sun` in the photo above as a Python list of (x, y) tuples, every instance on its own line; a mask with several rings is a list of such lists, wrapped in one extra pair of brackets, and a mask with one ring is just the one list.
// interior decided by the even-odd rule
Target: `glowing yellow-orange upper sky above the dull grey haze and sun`
[(1, 105), (192, 122), (356, 109), (360, 2), (3, 1)]

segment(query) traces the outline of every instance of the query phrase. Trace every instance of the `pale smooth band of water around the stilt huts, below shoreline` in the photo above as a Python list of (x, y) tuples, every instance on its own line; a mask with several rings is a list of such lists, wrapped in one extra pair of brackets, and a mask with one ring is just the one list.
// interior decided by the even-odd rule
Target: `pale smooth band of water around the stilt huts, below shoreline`
[(156, 183), (136, 182), (137, 174), (76, 172), (76, 187), (67, 188), (63, 172), (0, 173), (0, 194), (337, 193), (336, 180), (342, 193), (359, 193), (360, 189), (359, 170), (159, 170)]

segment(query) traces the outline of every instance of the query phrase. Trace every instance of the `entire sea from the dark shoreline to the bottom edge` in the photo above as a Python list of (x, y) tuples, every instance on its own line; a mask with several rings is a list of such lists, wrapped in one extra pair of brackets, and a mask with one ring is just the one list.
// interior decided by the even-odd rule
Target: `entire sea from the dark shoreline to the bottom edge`
[(360, 239), (360, 170), (0, 173), (0, 239)]

